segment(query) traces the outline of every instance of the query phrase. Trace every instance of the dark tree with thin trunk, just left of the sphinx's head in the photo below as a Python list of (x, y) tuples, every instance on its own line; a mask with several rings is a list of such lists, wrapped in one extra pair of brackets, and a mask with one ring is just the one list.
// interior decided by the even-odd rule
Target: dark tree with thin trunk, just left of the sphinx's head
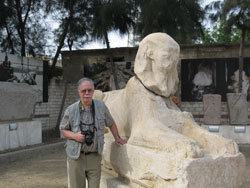
[(93, 0), (91, 7), (93, 14), (91, 36), (94, 39), (102, 40), (106, 43), (111, 62), (112, 74), (114, 76), (115, 87), (116, 89), (119, 89), (108, 33), (110, 31), (119, 31), (120, 34), (129, 32), (129, 29), (134, 24), (133, 19), (131, 18), (131, 1)]

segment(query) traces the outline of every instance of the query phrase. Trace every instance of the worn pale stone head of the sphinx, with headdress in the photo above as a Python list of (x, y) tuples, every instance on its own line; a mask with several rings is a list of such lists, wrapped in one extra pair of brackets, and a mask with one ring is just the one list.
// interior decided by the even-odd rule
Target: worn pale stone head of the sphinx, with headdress
[(151, 91), (169, 97), (178, 87), (180, 47), (169, 35), (153, 33), (140, 43), (134, 71)]

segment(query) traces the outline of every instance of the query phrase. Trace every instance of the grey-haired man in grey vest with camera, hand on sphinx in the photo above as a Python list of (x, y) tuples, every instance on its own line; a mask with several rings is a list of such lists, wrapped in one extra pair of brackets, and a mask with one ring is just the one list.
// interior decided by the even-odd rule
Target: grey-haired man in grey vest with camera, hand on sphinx
[(103, 101), (93, 100), (93, 81), (82, 78), (78, 82), (80, 100), (70, 105), (62, 119), (60, 130), (67, 138), (67, 173), (69, 188), (99, 188), (104, 128), (108, 126), (117, 146), (125, 144)]

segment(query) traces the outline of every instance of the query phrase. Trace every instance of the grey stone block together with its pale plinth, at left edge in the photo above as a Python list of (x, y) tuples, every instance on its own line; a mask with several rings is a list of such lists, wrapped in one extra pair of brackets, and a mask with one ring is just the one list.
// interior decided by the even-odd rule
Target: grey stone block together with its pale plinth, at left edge
[(0, 151), (42, 142), (42, 124), (32, 121), (35, 103), (30, 85), (0, 82)]

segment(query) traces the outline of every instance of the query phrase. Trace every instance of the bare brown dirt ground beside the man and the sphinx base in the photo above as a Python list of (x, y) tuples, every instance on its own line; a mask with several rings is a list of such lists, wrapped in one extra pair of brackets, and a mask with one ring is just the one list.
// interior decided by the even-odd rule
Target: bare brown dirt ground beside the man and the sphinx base
[[(239, 188), (250, 188), (250, 149), (243, 154), (247, 159), (247, 169), (245, 181)], [(0, 188), (67, 188), (64, 149), (28, 160), (0, 164)]]

